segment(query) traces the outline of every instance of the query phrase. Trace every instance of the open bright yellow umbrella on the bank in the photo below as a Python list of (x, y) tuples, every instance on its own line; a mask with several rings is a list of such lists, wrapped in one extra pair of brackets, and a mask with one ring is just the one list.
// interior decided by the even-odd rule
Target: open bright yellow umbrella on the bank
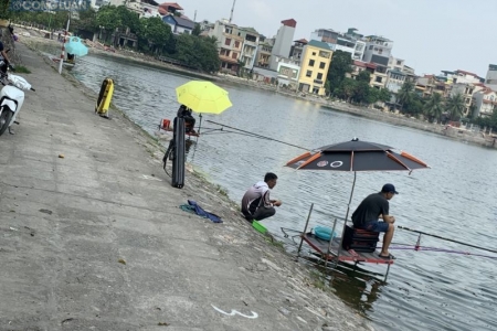
[(233, 106), (228, 92), (205, 81), (191, 81), (176, 88), (178, 103), (195, 113), (221, 114)]

